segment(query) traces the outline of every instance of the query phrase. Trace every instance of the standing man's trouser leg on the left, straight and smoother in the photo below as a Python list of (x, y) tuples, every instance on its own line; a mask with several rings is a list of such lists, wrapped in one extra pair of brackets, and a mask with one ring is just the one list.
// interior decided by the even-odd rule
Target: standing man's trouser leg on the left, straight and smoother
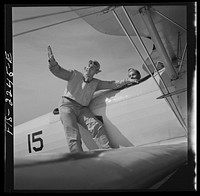
[(60, 119), (66, 134), (70, 152), (82, 152), (81, 136), (76, 120), (72, 111), (66, 111), (66, 108), (60, 108)]

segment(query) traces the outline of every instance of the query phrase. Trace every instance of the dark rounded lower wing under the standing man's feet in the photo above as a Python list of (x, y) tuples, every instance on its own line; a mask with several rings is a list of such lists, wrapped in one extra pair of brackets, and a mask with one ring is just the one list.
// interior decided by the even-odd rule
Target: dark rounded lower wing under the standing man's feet
[(15, 189), (148, 188), (184, 164), (186, 154), (181, 143), (51, 156), (15, 167)]

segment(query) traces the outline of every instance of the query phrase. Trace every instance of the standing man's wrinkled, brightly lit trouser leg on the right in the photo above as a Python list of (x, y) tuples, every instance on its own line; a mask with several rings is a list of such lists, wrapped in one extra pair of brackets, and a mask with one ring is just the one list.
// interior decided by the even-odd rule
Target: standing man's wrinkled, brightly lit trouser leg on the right
[(98, 120), (95, 115), (88, 109), (82, 109), (78, 122), (90, 131), (94, 141), (100, 149), (109, 149), (109, 140), (105, 133), (103, 123)]

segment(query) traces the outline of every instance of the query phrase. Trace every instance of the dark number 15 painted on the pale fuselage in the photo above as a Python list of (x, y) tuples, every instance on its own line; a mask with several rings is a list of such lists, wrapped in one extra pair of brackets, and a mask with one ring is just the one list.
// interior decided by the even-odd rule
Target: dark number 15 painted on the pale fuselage
[[(43, 139), (39, 136), (41, 134), (42, 134), (42, 131), (28, 134), (28, 151), (29, 151), (29, 153), (32, 152), (32, 149), (35, 152), (41, 151), (43, 149), (43, 147), (44, 147)], [(34, 144), (34, 146), (33, 146), (33, 144)]]

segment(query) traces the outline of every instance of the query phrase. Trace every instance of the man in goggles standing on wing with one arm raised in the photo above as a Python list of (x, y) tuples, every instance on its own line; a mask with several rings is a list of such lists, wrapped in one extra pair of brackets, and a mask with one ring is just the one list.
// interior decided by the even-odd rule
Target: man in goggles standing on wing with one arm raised
[(86, 128), (100, 149), (109, 149), (109, 140), (101, 121), (90, 111), (88, 105), (95, 91), (103, 89), (118, 89), (133, 82), (131, 78), (122, 81), (102, 81), (94, 78), (101, 72), (100, 64), (90, 60), (84, 67), (84, 73), (77, 70), (64, 69), (55, 60), (48, 46), (49, 70), (58, 78), (66, 80), (60, 106), (60, 119), (66, 133), (70, 152), (82, 152), (81, 136), (78, 123)]

